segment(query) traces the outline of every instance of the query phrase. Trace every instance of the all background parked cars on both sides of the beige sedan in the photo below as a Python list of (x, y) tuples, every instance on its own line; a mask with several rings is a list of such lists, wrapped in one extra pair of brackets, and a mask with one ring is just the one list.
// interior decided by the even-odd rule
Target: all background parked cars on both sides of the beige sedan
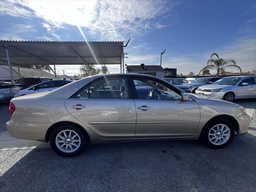
[[(79, 80), (75, 79), (75, 80)], [(202, 94), (232, 102), (235, 98), (256, 98), (256, 76), (164, 78), (185, 92)], [(73, 80), (50, 78), (20, 78), (15, 84), (0, 80), (0, 100), (36, 92), (51, 91)]]

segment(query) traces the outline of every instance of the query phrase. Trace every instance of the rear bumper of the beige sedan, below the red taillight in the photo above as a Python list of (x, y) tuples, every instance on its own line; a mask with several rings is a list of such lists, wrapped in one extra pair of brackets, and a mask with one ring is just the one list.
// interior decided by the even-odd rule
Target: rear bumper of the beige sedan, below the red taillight
[(14, 138), (45, 142), (46, 131), (51, 125), (50, 123), (15, 122), (9, 120), (6, 123), (6, 129), (10, 136)]

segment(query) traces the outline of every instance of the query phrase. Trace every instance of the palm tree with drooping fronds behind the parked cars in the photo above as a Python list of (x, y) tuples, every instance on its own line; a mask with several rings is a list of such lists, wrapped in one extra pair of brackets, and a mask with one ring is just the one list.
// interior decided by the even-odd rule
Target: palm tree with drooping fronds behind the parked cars
[[(214, 58), (216, 56), (217, 58)], [(210, 59), (207, 62), (207, 65), (202, 68), (199, 72), (199, 75), (201, 72), (205, 71), (206, 69), (216, 69), (217, 70), (217, 76), (220, 76), (220, 72), (225, 70), (225, 68), (235, 68), (240, 70), (240, 73), (242, 74), (242, 70), (239, 66), (236, 65), (236, 61), (234, 59), (223, 59), (218, 56), (218, 54), (213, 53), (210, 57)]]

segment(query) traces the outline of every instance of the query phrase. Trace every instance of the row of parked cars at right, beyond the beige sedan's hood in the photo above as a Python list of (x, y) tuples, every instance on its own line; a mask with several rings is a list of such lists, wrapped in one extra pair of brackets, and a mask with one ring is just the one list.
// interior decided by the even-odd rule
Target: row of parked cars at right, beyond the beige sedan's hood
[[(178, 88), (195, 94), (232, 102), (235, 98), (256, 98), (256, 76), (164, 78)], [(190, 80), (190, 82), (188, 82)]]

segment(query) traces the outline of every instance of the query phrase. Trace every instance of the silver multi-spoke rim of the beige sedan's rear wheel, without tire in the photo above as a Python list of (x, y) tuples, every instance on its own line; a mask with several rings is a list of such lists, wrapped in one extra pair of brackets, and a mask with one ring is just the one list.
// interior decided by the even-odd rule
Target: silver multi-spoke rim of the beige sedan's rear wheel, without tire
[(57, 134), (55, 144), (62, 152), (71, 153), (80, 147), (81, 139), (77, 132), (67, 129)]

